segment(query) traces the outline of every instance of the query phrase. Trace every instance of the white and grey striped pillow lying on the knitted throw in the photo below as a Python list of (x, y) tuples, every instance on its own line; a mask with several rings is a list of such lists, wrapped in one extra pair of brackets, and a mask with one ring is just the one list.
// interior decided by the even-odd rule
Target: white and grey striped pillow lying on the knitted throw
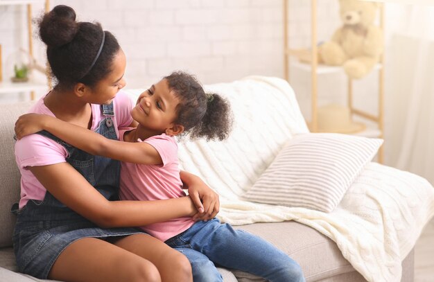
[(294, 136), (244, 197), (331, 212), (382, 143), (338, 133)]

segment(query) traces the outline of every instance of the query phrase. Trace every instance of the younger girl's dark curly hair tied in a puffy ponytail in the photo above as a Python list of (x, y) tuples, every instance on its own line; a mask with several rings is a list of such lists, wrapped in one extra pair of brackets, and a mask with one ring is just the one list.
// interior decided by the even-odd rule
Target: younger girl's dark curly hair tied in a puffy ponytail
[(163, 79), (180, 100), (175, 123), (184, 126), (191, 139), (227, 139), (232, 130), (233, 116), (229, 102), (218, 94), (206, 94), (195, 76), (175, 71)]

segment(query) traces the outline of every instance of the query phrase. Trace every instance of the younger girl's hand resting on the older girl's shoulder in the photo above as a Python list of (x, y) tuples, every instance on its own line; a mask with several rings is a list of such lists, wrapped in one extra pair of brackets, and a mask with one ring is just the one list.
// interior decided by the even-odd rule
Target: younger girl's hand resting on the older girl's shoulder
[(23, 114), (19, 116), (15, 122), (15, 135), (17, 140), (44, 130), (44, 124), (49, 121), (52, 116), (46, 116), (45, 114)]

